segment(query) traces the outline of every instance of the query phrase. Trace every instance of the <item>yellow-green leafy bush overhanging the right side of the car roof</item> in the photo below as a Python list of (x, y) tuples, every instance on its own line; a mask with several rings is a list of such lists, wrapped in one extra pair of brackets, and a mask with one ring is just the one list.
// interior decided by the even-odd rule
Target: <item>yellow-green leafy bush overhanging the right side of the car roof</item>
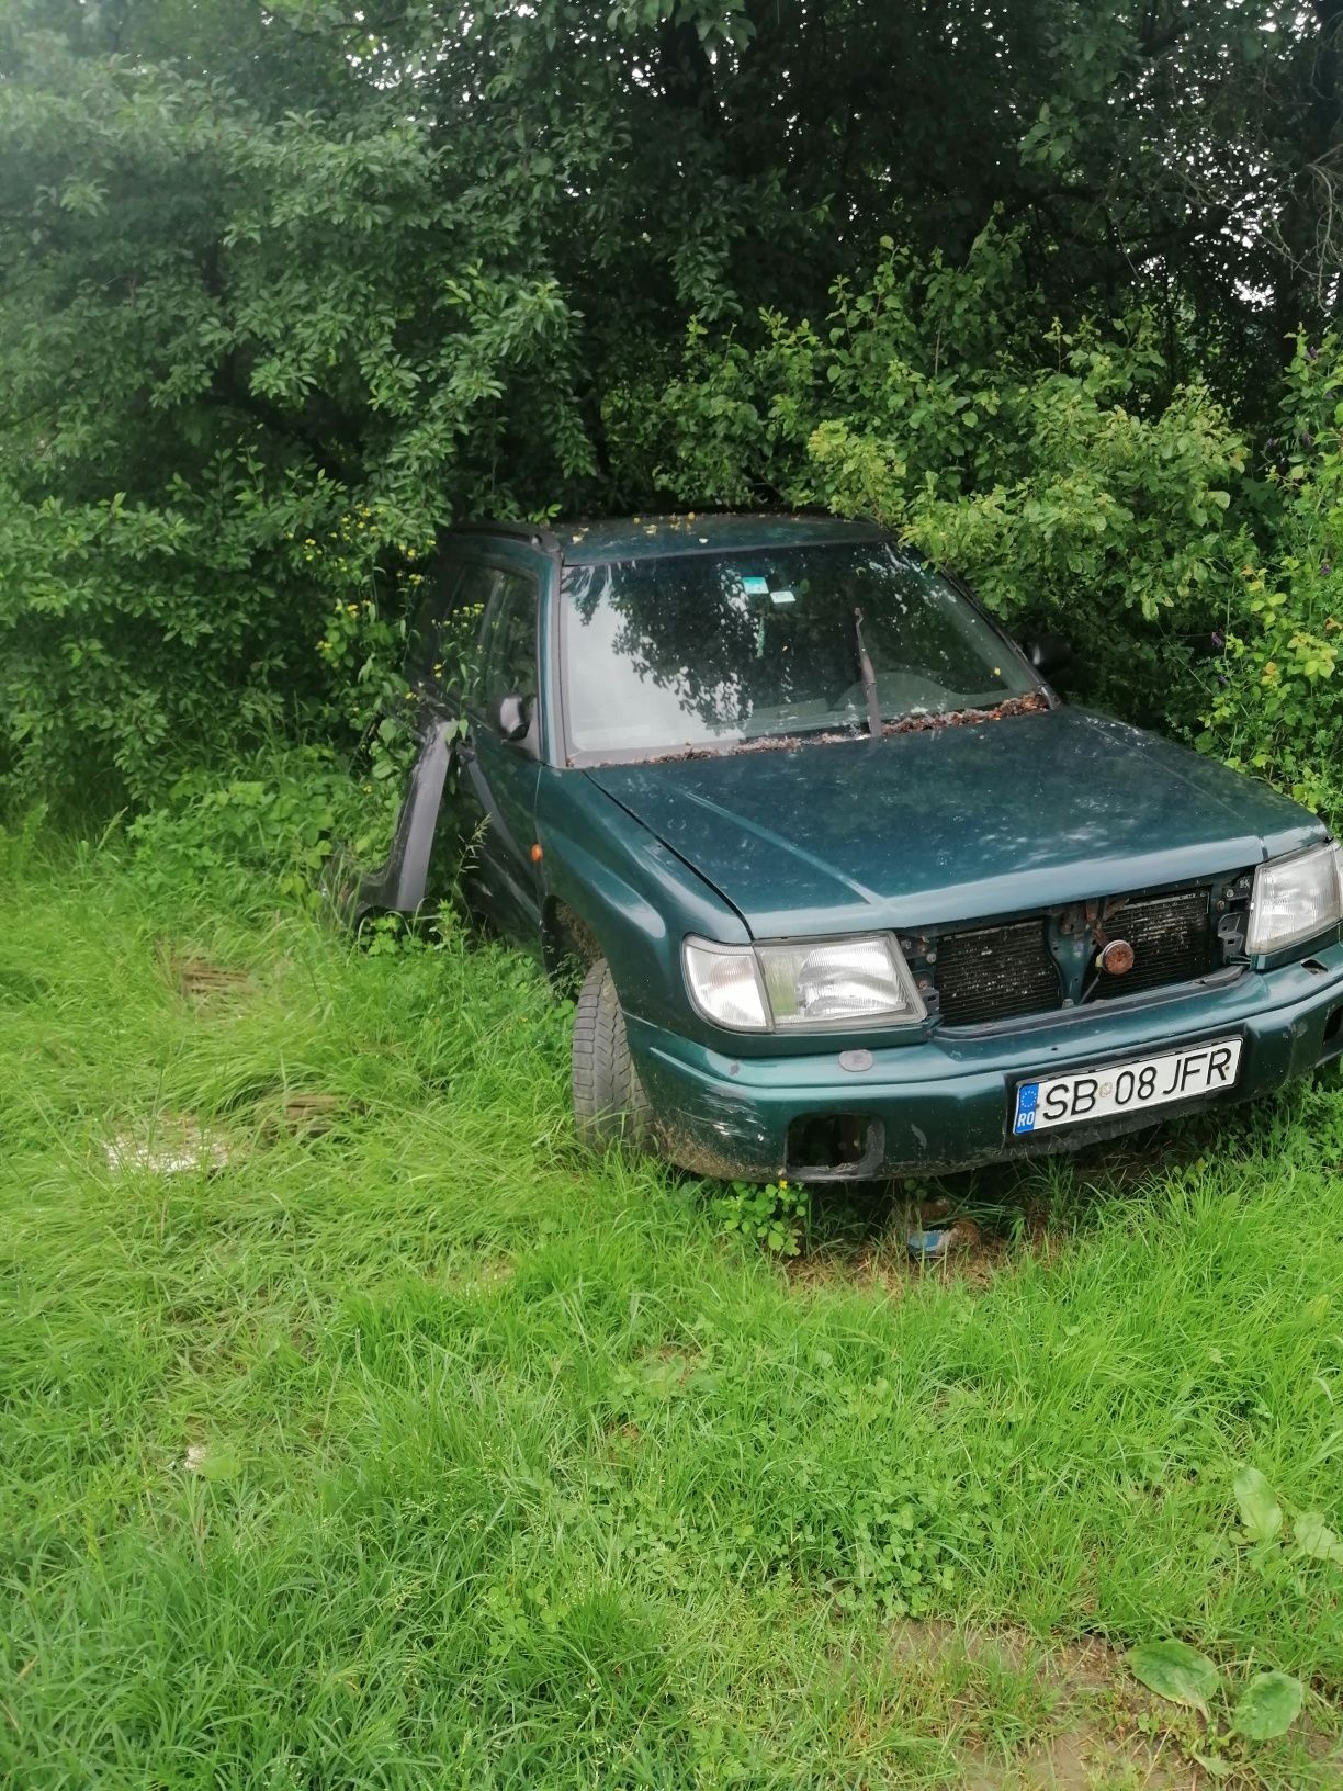
[(990, 226), (963, 267), (886, 238), (825, 333), (693, 324), (679, 376), (614, 394), (609, 426), (677, 501), (876, 516), (1010, 625), (1073, 636), (1099, 695), (1191, 725), (1171, 657), (1221, 614), (1246, 446), (1203, 385), (1169, 383), (1151, 313), (1044, 337), (1033, 315), (1019, 235)]

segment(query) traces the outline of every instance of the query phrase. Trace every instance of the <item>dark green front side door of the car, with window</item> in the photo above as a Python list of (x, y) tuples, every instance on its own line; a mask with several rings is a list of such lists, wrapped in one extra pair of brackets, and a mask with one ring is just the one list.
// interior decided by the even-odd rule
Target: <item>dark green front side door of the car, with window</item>
[[(457, 747), (458, 793), (467, 826), (475, 818), (462, 888), (476, 912), (530, 944), (541, 928), (537, 870), (532, 861), (541, 772), (541, 580), (518, 566), (498, 564), (489, 570), (492, 586), (467, 691), (467, 729)], [(467, 564), (466, 580), (471, 580), (473, 571)], [(500, 707), (509, 697), (521, 698), (526, 718), (526, 731), (516, 740), (503, 738), (500, 731)]]

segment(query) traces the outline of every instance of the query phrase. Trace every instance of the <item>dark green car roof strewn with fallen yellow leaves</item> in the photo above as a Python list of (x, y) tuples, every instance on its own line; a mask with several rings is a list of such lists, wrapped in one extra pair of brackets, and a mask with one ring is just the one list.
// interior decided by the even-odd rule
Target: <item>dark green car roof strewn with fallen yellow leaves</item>
[(498, 534), (507, 539), (526, 536), (550, 552), (559, 552), (566, 566), (593, 566), (602, 561), (664, 559), (677, 553), (725, 553), (738, 548), (813, 546), (831, 541), (879, 541), (876, 523), (843, 521), (838, 516), (797, 516), (765, 512), (684, 510), (673, 516), (618, 516), (598, 521), (553, 523), (535, 528), (518, 523), (473, 523), (473, 536)]

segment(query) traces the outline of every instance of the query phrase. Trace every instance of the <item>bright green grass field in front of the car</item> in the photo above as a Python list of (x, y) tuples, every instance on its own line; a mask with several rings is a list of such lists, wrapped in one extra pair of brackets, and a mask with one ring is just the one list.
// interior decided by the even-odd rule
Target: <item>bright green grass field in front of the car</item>
[[(1341, 1782), (1343, 1096), (786, 1264), (578, 1155), (523, 960), (0, 863), (0, 1782)], [(1139, 1692), (1171, 1635), (1300, 1723)]]

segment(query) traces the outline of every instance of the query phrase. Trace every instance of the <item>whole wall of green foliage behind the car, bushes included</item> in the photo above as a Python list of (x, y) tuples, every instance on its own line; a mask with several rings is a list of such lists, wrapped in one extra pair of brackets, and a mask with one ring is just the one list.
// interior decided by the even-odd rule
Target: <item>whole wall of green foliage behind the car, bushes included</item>
[(1153, 697), (1293, 557), (1341, 56), (1343, 0), (4, 0), (0, 776), (362, 722), (442, 527), (659, 493), (876, 509)]

